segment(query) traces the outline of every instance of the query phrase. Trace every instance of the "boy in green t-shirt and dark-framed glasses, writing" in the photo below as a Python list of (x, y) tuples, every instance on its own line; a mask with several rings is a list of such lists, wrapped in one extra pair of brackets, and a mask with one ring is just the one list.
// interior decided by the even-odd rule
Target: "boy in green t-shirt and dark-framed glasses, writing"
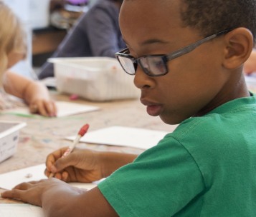
[[(255, 14), (252, 0), (123, 1), (120, 64), (148, 114), (180, 125), (137, 158), (78, 149), (61, 158), (62, 148), (47, 158), (56, 178), (2, 196), (46, 216), (256, 216), (256, 99), (242, 76)], [(86, 193), (57, 180), (103, 177)]]

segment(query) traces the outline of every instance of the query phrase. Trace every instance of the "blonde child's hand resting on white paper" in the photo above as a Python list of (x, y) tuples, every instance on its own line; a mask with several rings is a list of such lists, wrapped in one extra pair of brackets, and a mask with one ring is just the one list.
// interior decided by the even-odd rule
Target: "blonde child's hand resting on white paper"
[(51, 99), (37, 99), (29, 104), (29, 111), (31, 113), (39, 113), (42, 116), (56, 116), (57, 108)]

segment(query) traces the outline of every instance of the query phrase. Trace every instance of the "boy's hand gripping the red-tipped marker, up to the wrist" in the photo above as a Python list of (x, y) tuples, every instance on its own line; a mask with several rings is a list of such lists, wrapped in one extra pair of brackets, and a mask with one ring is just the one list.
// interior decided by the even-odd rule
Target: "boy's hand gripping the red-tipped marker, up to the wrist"
[(67, 147), (61, 148), (47, 156), (47, 168), (44, 172), (46, 176), (54, 173), (55, 178), (66, 182), (92, 182), (104, 178), (100, 152), (75, 148), (62, 158), (66, 150)]

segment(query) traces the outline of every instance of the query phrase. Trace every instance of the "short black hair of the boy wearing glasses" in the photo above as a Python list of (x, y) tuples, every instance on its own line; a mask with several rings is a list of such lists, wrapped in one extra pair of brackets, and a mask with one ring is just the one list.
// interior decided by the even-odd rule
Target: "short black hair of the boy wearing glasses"
[(181, 0), (182, 26), (209, 36), (245, 27), (256, 36), (256, 0)]

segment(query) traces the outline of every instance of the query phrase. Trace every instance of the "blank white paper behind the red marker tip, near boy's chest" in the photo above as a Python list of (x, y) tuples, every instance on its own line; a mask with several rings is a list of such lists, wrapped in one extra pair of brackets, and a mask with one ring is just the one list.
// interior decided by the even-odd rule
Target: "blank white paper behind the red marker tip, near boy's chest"
[[(96, 131), (89, 131), (82, 138), (81, 142), (97, 143), (112, 146), (128, 146), (133, 148), (148, 149), (156, 146), (167, 131), (155, 131), (144, 128), (132, 128), (125, 126), (111, 126)], [(67, 137), (74, 140), (75, 136)]]

